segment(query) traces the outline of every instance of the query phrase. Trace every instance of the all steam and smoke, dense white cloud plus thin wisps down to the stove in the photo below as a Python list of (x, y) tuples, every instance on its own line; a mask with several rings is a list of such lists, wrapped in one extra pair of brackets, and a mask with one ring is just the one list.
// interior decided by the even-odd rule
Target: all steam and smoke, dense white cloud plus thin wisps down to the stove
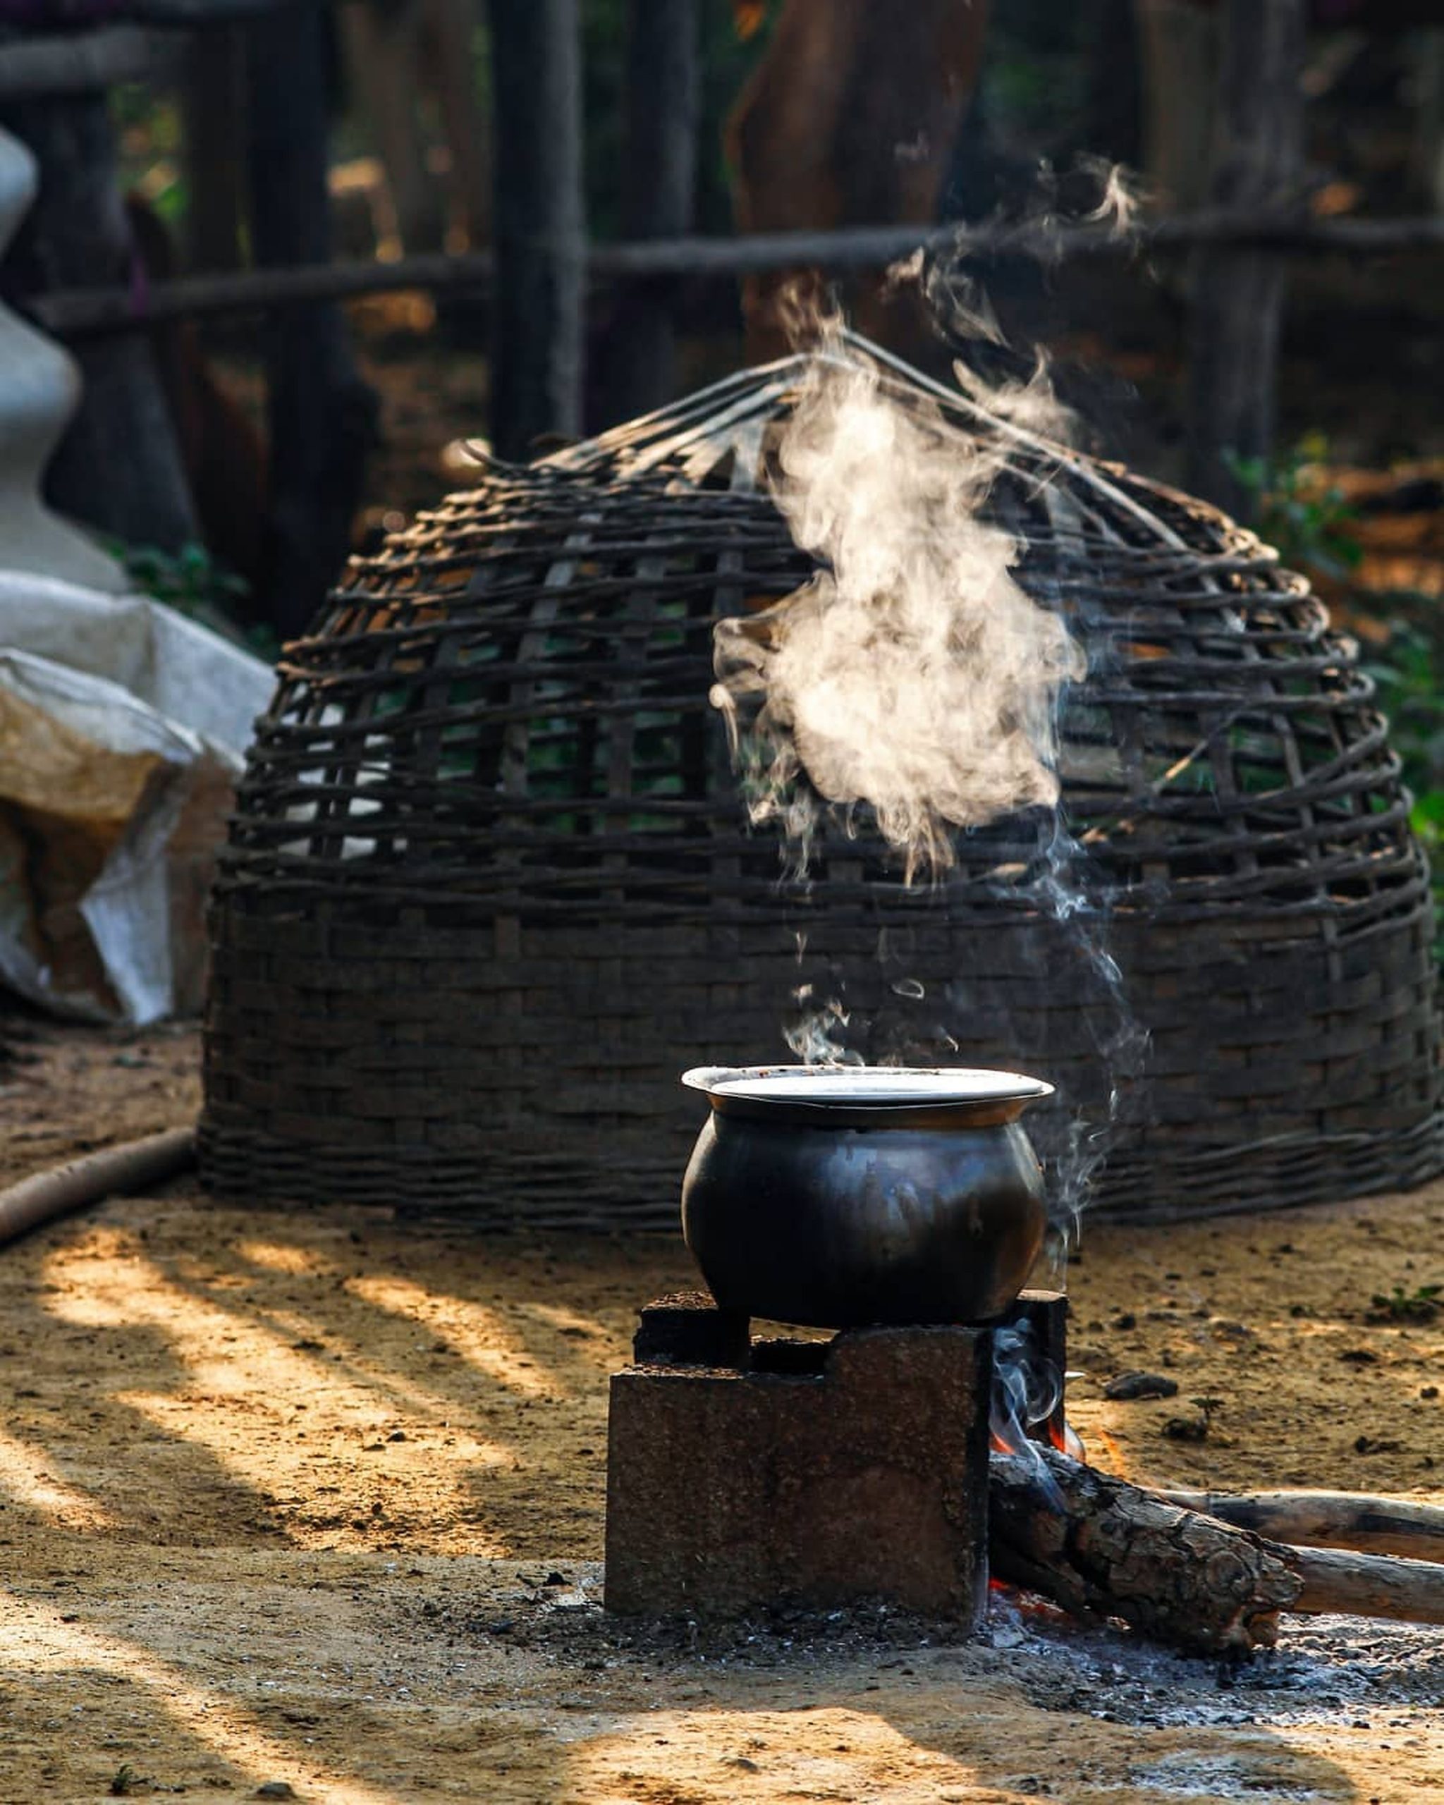
[[(1125, 200), (1110, 180), (1090, 217), (1119, 217)], [(984, 361), (1020, 366), (960, 264), (919, 260), (897, 278), (919, 280)], [(989, 505), (1004, 475), (1014, 486), (1051, 480), (1049, 444), (1067, 446), (1072, 417), (1041, 357), (1031, 377), (1004, 383), (958, 365), (958, 417), (904, 388), (838, 321), (805, 327), (812, 356), (776, 446), (773, 493), (821, 569), (715, 634), (711, 699), (749, 814), (782, 828), (789, 875), (809, 872), (827, 823), (852, 832), (870, 814), (906, 881), (939, 886), (962, 881), (949, 868), (964, 834), (1020, 819), (1004, 828), (1009, 850), (991, 877), (966, 874), (969, 912), (989, 892), (998, 904), (987, 946), (975, 942), (980, 958), (933, 967), (924, 986), (913, 958), (930, 955), (921, 944), (915, 955), (902, 922), (879, 930), (872, 975), (819, 951), (800, 973), (785, 1040), (809, 1063), (931, 1065), (962, 1054), (1056, 1076), (1045, 1011), (1023, 1011), (1002, 1038), (989, 1029), (986, 1047), (975, 1023), (1009, 1023), (1018, 975), (1034, 969), (1047, 984), (1063, 960), (1079, 1000), (1069, 1034), (1081, 1027), (1097, 1049), (1087, 1094), (1060, 1092), (1032, 1132), (1051, 1193), (1051, 1271), (1038, 1280), (1063, 1289), (1078, 1217), (1143, 1101), (1148, 1056), (1108, 951), (1112, 897), (1092, 883), (1060, 796), (1058, 722), (1087, 657), (1067, 621), (1022, 588), (1022, 547)], [(800, 935), (800, 964), (805, 944)]]

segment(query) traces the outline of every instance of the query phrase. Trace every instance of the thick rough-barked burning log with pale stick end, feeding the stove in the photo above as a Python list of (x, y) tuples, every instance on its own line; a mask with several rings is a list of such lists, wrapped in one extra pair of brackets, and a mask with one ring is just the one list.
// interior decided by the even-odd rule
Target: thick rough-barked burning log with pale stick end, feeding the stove
[(1444, 1623), (1444, 1565), (1265, 1541), (1041, 1444), (989, 1462), (989, 1561), (1078, 1615), (1195, 1653), (1249, 1653), (1278, 1614)]

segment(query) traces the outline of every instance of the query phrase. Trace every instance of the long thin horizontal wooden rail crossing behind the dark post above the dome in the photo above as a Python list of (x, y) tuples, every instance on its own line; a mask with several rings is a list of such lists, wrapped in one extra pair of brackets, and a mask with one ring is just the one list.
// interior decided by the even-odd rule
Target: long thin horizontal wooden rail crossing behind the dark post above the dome
[[(960, 256), (1119, 256), (1191, 251), (1199, 245), (1269, 245), (1292, 255), (1392, 256), (1444, 249), (1444, 215), (1399, 218), (1294, 218), (1278, 213), (1193, 213), (1126, 233), (1101, 226), (857, 226), (845, 231), (762, 233), (747, 238), (657, 238), (637, 244), (596, 244), (587, 253), (594, 282), (699, 280), (816, 265), (866, 269), (917, 249)], [(397, 289), (487, 291), (496, 274), (489, 251), (464, 256), (406, 256), (397, 262), (310, 264), (292, 269), (251, 269), (220, 276), (130, 289), (67, 289), (34, 296), (34, 319), (60, 338), (134, 332), (164, 319), (235, 314), (251, 309), (303, 307)]]

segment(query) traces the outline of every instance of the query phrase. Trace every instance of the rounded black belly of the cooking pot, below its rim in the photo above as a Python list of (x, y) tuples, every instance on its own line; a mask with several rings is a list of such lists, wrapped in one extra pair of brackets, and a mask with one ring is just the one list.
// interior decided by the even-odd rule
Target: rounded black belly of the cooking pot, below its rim
[(1022, 1126), (801, 1128), (711, 1114), (682, 1233), (722, 1309), (819, 1328), (984, 1323), (1041, 1245)]

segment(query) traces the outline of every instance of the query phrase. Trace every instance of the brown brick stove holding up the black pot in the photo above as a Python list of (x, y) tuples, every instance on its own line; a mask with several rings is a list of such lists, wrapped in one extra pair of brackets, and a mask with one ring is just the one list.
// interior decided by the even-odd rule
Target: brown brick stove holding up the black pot
[[(1005, 1319), (1060, 1374), (1065, 1312), (1023, 1292)], [(991, 1327), (754, 1338), (682, 1292), (641, 1312), (634, 1357), (610, 1393), (608, 1610), (881, 1599), (982, 1619)]]

